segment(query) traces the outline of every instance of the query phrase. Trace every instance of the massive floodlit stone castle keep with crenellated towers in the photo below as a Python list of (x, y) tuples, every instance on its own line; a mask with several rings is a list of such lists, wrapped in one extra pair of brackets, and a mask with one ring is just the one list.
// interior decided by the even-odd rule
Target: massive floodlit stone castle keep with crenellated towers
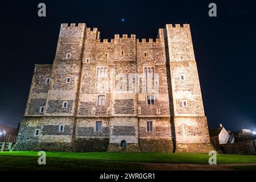
[(14, 150), (213, 150), (189, 24), (102, 41), (97, 28), (61, 24), (53, 64), (35, 65)]

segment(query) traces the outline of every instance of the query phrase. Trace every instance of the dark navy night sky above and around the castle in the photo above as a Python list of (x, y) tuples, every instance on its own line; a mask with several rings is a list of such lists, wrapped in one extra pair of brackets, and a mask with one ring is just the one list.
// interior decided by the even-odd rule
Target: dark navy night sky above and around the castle
[[(208, 15), (210, 2), (217, 17)], [(53, 62), (60, 23), (97, 27), (101, 39), (156, 38), (167, 23), (189, 23), (209, 127), (256, 130), (255, 1), (6, 1), (1, 9), (1, 124), (18, 126), (34, 65)]]

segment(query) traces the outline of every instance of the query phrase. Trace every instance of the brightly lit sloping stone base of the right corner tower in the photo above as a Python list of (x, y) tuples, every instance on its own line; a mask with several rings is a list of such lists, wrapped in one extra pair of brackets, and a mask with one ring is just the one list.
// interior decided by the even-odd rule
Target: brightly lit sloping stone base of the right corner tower
[(176, 143), (175, 152), (209, 153), (215, 150), (211, 143)]

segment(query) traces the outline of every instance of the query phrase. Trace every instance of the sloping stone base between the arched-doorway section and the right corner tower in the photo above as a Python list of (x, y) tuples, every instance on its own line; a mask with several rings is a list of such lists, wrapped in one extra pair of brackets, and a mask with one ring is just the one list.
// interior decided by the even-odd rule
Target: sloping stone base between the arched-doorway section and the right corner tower
[(172, 152), (172, 139), (139, 139), (142, 152)]

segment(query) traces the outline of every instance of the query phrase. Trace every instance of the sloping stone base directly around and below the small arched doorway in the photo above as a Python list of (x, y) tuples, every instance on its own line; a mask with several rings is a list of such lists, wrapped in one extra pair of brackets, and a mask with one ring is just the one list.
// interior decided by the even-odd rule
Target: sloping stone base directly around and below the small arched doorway
[(109, 143), (108, 152), (141, 152), (138, 143), (127, 143), (126, 147), (121, 147), (119, 143)]

